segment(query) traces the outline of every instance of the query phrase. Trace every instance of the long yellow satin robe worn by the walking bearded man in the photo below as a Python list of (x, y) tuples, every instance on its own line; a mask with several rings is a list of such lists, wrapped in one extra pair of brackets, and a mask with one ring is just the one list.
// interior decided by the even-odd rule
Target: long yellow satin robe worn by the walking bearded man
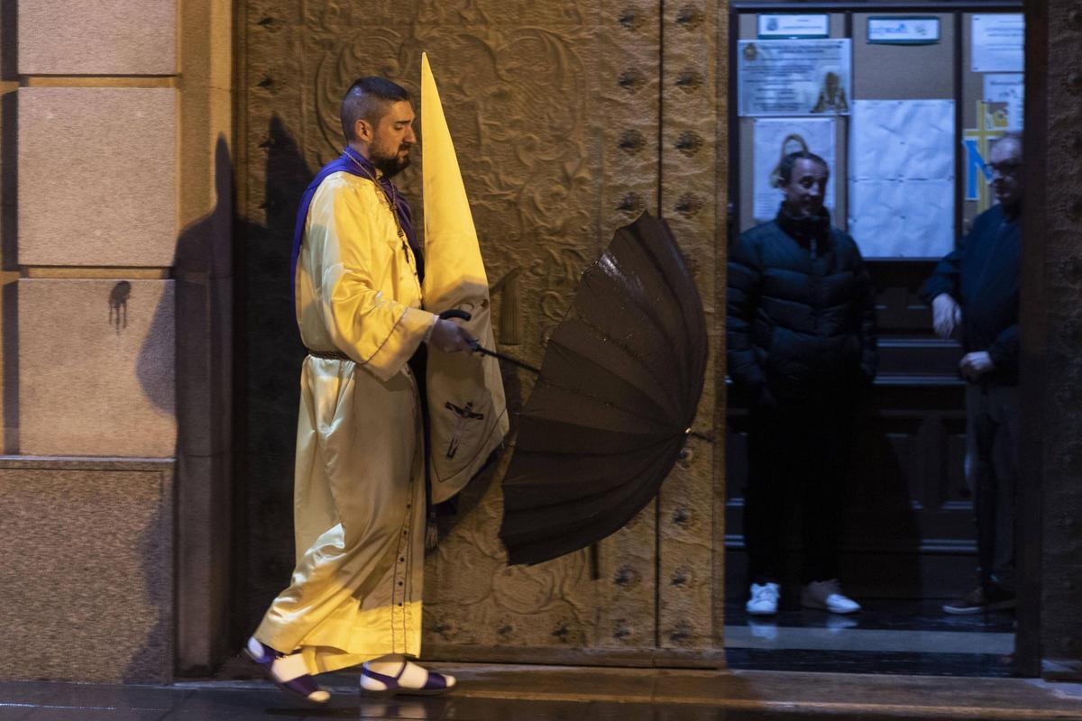
[(296, 270), (304, 345), (294, 526), (296, 568), (255, 631), (301, 649), (311, 673), (421, 650), (424, 449), (407, 361), (433, 323), (409, 244), (375, 184), (328, 176)]

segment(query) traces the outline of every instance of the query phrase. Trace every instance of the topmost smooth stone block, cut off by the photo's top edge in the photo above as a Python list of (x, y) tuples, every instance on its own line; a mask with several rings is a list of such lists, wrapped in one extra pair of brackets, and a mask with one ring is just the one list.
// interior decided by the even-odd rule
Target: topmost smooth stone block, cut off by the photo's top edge
[(19, 0), (22, 75), (174, 75), (175, 0)]

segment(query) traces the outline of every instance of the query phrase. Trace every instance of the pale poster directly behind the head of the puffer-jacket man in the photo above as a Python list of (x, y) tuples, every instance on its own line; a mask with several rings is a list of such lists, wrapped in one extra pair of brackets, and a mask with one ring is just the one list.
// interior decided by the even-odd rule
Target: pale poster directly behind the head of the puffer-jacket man
[(834, 210), (834, 138), (833, 118), (756, 118), (755, 119), (755, 222), (773, 221), (781, 204), (778, 189), (778, 163), (790, 152), (809, 150), (827, 161), (830, 178), (823, 204)]

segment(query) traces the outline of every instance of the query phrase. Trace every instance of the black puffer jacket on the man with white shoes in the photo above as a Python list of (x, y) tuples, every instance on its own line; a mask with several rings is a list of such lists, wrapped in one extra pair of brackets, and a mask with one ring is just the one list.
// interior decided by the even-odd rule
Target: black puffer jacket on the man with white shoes
[(830, 399), (875, 377), (875, 292), (826, 211), (777, 219), (729, 249), (728, 372), (777, 399)]

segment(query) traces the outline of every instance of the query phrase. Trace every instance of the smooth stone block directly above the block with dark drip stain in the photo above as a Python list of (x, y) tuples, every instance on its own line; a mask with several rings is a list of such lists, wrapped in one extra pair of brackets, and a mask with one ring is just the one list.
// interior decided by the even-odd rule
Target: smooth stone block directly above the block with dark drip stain
[(21, 88), (18, 262), (170, 266), (176, 92)]

